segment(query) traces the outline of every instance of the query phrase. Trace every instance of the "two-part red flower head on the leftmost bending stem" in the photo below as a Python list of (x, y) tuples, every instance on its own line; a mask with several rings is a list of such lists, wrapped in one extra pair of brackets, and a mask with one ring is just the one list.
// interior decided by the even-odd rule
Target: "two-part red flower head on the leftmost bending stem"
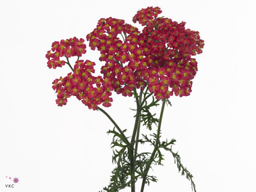
[[(56, 68), (65, 65), (65, 63), (70, 65), (68, 58), (72, 56), (81, 57), (86, 52), (86, 45), (83, 38), (78, 40), (74, 37), (60, 42), (53, 42), (51, 51), (48, 51), (45, 56), (48, 59), (47, 65), (49, 68)], [(60, 60), (62, 56), (67, 58), (67, 62)], [(67, 99), (72, 95), (81, 100), (89, 109), (95, 110), (101, 103), (105, 107), (111, 106), (110, 102), (113, 99), (109, 96), (113, 91), (113, 87), (109, 86), (106, 79), (104, 81), (102, 77), (92, 75), (95, 72), (94, 65), (95, 63), (89, 60), (77, 60), (74, 69), (72, 68), (73, 73), (69, 73), (66, 77), (60, 77), (60, 79), (55, 79), (52, 82), (52, 88), (57, 93), (58, 99), (56, 99), (56, 103), (58, 106), (67, 104)]]

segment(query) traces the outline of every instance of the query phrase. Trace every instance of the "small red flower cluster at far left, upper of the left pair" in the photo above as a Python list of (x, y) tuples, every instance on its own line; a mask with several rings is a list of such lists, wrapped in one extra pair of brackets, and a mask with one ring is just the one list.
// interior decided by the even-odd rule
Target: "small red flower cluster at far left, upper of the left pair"
[(83, 38), (79, 40), (74, 37), (60, 42), (53, 42), (51, 51), (47, 51), (47, 66), (49, 68), (62, 67), (65, 65), (64, 60), (60, 60), (62, 56), (70, 58), (72, 56), (82, 56), (86, 52), (86, 45)]

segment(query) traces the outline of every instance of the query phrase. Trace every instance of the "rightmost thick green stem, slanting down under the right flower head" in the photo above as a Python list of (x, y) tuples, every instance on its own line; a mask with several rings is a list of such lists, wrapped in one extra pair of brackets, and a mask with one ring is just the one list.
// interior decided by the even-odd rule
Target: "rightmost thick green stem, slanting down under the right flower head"
[(154, 161), (154, 157), (156, 155), (157, 150), (159, 149), (159, 137), (160, 137), (160, 132), (161, 132), (161, 124), (162, 124), (162, 119), (163, 119), (165, 101), (166, 101), (166, 97), (164, 97), (162, 108), (161, 108), (159, 124), (158, 124), (158, 128), (157, 128), (157, 138), (156, 138), (155, 147), (154, 147), (154, 150), (153, 150), (153, 152), (152, 152), (152, 154), (150, 156), (150, 159), (149, 159), (149, 161), (148, 161), (148, 163), (146, 165), (145, 172), (144, 172), (144, 175), (143, 175), (143, 180), (142, 180), (141, 191), (140, 192), (144, 191), (144, 187), (145, 187), (145, 183), (146, 183), (146, 179), (147, 179), (147, 175), (148, 175), (148, 170), (150, 168), (150, 165), (151, 165), (152, 161)]

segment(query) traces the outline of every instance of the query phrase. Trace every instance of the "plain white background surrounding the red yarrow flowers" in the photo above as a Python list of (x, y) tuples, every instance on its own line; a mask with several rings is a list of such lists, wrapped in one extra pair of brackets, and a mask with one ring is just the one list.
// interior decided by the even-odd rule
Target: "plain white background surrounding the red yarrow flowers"
[[(50, 70), (45, 54), (55, 40), (85, 39), (100, 18), (133, 24), (147, 6), (184, 20), (205, 40), (193, 92), (172, 97), (173, 106), (165, 109), (163, 138), (177, 140), (173, 149), (198, 192), (256, 191), (255, 2), (191, 0), (1, 1), (0, 191), (87, 192), (108, 185), (113, 165), (106, 131), (113, 125), (76, 98), (62, 108), (55, 104), (51, 83), (70, 69)], [(83, 58), (102, 65), (97, 51), (87, 49)], [(133, 99), (113, 99), (106, 111), (131, 131)], [(164, 157), (164, 166), (154, 167), (159, 181), (145, 191), (191, 191), (171, 154)], [(12, 184), (6, 176), (18, 177), (19, 184), (6, 189)]]

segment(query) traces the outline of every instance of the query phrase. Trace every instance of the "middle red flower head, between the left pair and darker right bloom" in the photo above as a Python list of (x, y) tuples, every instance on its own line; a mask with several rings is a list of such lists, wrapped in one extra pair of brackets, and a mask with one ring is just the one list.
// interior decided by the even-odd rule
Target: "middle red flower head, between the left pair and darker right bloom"
[(100, 51), (99, 60), (106, 62), (100, 71), (103, 78), (111, 82), (116, 93), (124, 96), (131, 96), (134, 88), (145, 86), (145, 81), (138, 78), (130, 66), (123, 65), (126, 62), (132, 63), (140, 56), (141, 52), (137, 51), (138, 35), (137, 28), (125, 24), (124, 20), (111, 17), (100, 19), (97, 28), (87, 35), (90, 47)]

